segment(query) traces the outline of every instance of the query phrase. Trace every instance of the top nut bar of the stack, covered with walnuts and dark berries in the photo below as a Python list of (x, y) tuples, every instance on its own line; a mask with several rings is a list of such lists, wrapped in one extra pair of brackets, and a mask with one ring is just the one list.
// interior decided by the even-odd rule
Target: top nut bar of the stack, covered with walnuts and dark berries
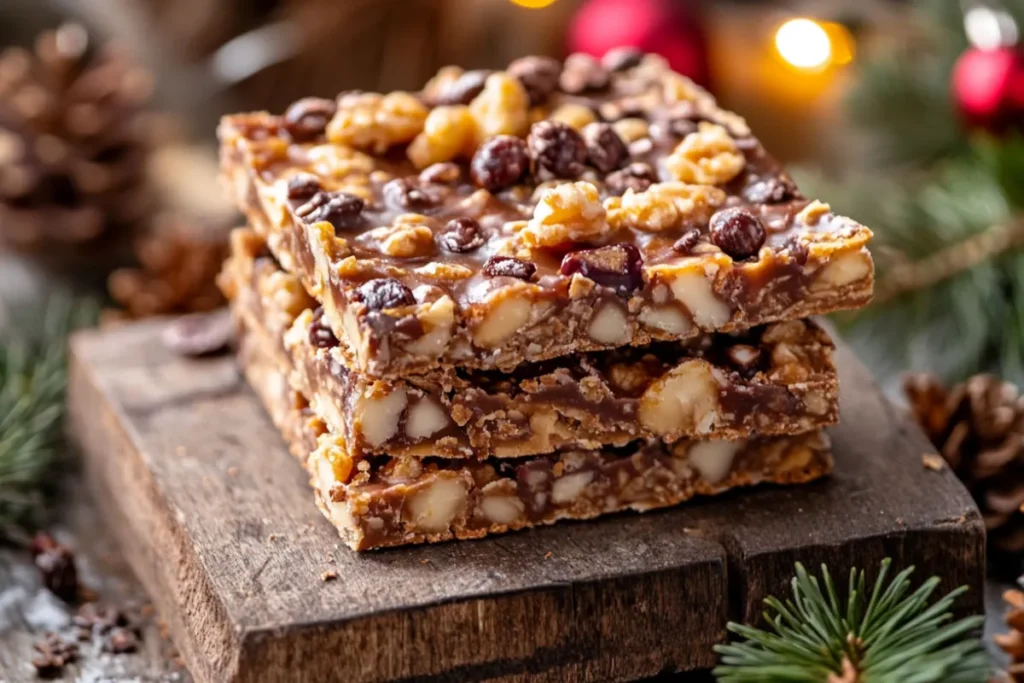
[(369, 377), (856, 308), (870, 230), (658, 57), (442, 70), (226, 117), (227, 185)]

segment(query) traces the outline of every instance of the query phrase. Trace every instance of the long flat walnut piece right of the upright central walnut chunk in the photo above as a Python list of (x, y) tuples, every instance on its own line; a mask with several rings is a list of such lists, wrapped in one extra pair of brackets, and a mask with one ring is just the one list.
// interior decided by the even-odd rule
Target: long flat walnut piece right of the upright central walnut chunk
[(725, 203), (725, 193), (711, 185), (659, 182), (642, 193), (626, 190), (604, 201), (612, 229), (635, 227), (649, 232), (677, 228), (684, 223), (707, 223)]

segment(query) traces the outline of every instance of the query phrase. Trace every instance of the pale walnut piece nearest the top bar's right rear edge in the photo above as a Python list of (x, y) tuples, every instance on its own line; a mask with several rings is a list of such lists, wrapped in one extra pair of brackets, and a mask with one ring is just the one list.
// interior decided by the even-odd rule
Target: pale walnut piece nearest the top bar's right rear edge
[(722, 126), (701, 122), (665, 159), (665, 167), (677, 180), (702, 185), (723, 185), (739, 175), (746, 165), (743, 154)]

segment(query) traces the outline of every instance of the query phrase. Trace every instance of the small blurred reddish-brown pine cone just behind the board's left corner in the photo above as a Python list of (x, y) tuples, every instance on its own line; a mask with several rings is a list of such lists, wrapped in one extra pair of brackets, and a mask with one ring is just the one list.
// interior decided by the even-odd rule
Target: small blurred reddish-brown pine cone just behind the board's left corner
[(135, 241), (137, 268), (111, 273), (108, 288), (123, 315), (193, 313), (223, 305), (216, 285), (227, 258), (228, 230), (202, 226), (176, 215), (160, 217)]

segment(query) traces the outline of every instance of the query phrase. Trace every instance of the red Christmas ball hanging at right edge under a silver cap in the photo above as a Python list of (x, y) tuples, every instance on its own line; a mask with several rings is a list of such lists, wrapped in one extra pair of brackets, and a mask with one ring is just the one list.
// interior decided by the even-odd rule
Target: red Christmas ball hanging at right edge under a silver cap
[(968, 49), (953, 67), (953, 100), (972, 126), (998, 132), (1024, 127), (1024, 51)]

